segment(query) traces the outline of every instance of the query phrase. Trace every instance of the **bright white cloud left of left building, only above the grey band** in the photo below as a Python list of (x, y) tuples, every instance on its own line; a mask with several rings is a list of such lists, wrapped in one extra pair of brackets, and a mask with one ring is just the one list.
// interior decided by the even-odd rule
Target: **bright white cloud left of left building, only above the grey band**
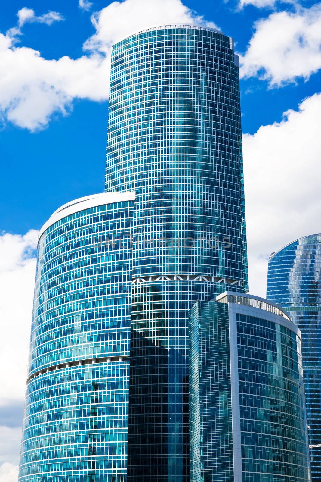
[[(1, 406), (23, 401), (32, 316), (38, 232), (0, 236)], [(2, 429), (0, 429), (2, 434)], [(0, 447), (0, 454), (2, 453)], [(8, 461), (8, 460), (7, 460)]]

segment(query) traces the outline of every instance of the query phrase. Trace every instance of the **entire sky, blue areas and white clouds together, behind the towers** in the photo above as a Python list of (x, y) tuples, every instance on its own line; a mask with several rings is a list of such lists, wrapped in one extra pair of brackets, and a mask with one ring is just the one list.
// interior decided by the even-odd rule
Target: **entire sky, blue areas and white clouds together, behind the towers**
[(112, 43), (186, 22), (234, 38), (250, 291), (264, 296), (269, 254), (321, 231), (321, 3), (2, 3), (0, 364), (11, 365), (0, 375), (0, 482), (16, 482), (38, 230), (60, 205), (103, 191)]

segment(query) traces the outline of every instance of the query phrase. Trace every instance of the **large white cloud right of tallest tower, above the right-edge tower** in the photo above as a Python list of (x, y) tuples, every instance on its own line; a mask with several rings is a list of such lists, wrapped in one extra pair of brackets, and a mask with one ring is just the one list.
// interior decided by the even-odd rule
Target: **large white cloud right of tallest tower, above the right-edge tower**
[(245, 134), (244, 182), (250, 291), (265, 296), (269, 255), (321, 232), (321, 94), (281, 122)]

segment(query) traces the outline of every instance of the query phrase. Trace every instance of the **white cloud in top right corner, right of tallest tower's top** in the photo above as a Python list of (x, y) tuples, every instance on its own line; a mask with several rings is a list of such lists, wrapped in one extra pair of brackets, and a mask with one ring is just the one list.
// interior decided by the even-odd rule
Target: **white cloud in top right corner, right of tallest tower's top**
[(308, 79), (321, 68), (321, 3), (259, 20), (240, 60), (241, 77), (258, 76), (271, 87)]

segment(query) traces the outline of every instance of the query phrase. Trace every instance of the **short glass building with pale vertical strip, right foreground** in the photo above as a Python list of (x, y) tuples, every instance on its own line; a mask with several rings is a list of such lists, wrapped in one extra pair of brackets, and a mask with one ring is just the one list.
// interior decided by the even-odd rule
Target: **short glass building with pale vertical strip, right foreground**
[(191, 482), (309, 482), (301, 334), (262, 298), (190, 311)]

